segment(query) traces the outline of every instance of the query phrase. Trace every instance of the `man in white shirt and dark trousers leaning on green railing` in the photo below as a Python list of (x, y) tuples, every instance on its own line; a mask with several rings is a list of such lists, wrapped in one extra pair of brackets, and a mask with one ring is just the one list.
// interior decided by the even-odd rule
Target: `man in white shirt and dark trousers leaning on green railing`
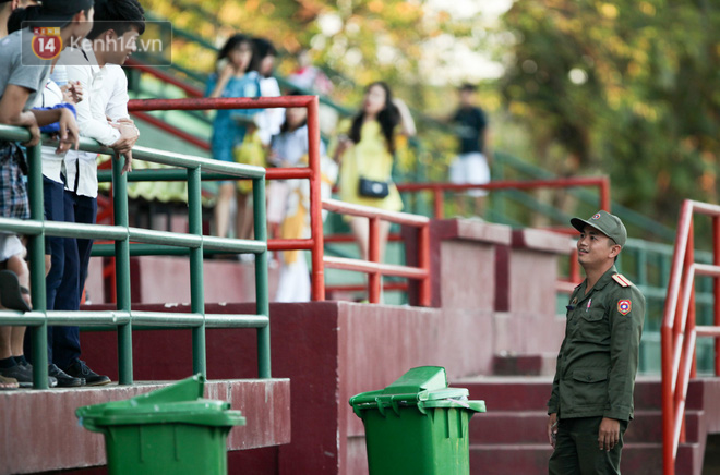
[[(136, 0), (96, 0), (96, 23), (83, 48), (65, 56), (68, 78), (77, 81), (84, 99), (75, 107), (80, 134), (95, 138), (125, 158), (123, 172), (131, 170), (132, 147), (140, 135), (128, 115), (128, 80), (121, 64), (136, 50), (135, 40), (145, 29), (143, 8)], [(97, 154), (71, 150), (65, 156), (65, 218), (95, 223), (97, 212)], [(77, 310), (87, 277), (92, 240), (67, 240), (74, 246), (65, 252), (63, 281), (58, 289), (56, 309)], [(73, 261), (73, 256), (77, 260)], [(88, 386), (110, 382), (80, 360), (77, 327), (56, 327), (53, 363)]]

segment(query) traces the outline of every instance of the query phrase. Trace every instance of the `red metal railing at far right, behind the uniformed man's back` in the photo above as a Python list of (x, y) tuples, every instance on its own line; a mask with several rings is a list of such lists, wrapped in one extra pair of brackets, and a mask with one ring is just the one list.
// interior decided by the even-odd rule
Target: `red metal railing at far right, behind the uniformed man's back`
[[(712, 219), (713, 264), (695, 263), (693, 217)], [(696, 276), (715, 278), (715, 326), (695, 325)], [(680, 442), (685, 440), (685, 400), (696, 376), (697, 337), (715, 337), (715, 372), (720, 376), (720, 206), (686, 199), (680, 212), (675, 251), (662, 316), (662, 466), (674, 475)]]

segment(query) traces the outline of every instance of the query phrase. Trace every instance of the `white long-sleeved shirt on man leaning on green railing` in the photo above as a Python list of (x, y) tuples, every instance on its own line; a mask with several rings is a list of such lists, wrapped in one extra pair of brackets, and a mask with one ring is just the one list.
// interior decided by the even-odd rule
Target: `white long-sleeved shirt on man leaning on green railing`
[[(83, 52), (85, 54), (79, 57)], [(129, 118), (128, 78), (122, 68), (117, 64), (100, 68), (92, 49), (71, 49), (65, 63), (68, 78), (80, 81), (84, 90), (83, 100), (75, 106), (80, 135), (106, 146), (115, 144), (120, 131), (110, 125), (107, 118), (113, 122)], [(97, 197), (97, 154), (70, 150), (65, 156), (65, 169), (67, 190)]]

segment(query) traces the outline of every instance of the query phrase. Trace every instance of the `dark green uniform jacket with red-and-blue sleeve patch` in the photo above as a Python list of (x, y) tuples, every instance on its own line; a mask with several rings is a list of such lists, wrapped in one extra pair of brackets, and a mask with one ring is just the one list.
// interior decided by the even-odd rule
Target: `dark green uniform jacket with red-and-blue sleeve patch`
[(571, 295), (549, 414), (633, 418), (645, 297), (616, 273), (613, 266), (587, 294), (586, 279)]

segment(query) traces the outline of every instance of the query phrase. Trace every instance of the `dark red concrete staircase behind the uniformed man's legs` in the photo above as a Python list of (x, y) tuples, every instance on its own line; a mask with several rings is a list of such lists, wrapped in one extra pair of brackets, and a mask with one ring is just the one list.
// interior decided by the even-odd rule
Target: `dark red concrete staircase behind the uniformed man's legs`
[[(552, 448), (545, 435), (545, 402), (552, 377), (477, 377), (454, 381), (484, 400), (485, 414), (470, 419), (470, 471), (483, 475), (548, 473)], [(677, 452), (676, 474), (701, 475), (707, 435), (718, 431), (720, 380), (691, 382), (686, 442)], [(638, 378), (635, 418), (625, 433), (623, 473), (662, 474), (662, 415), (659, 378)]]

